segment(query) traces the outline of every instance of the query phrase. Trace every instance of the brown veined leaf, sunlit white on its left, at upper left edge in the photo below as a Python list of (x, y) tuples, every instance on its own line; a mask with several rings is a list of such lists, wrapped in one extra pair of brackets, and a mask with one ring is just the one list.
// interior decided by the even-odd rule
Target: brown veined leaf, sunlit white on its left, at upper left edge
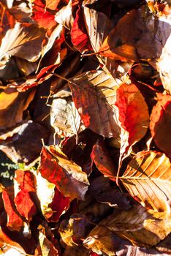
[(4, 68), (10, 56), (18, 56), (27, 61), (37, 61), (44, 37), (44, 29), (34, 24), (16, 23), (13, 29), (7, 31), (1, 41), (0, 67)]

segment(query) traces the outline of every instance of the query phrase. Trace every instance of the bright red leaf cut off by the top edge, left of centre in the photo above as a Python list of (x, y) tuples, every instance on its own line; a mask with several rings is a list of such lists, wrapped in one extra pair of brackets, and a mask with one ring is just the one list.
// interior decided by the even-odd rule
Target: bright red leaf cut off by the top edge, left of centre
[(42, 0), (34, 0), (31, 18), (44, 29), (51, 29), (56, 26), (54, 15), (45, 9), (45, 4), (42, 3)]

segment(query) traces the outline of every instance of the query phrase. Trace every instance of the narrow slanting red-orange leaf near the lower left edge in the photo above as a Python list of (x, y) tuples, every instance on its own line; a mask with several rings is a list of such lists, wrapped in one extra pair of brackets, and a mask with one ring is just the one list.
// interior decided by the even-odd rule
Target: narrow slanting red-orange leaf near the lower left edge
[(8, 187), (2, 192), (4, 208), (8, 216), (7, 227), (10, 230), (20, 231), (21, 227), (23, 227), (23, 220), (17, 213), (15, 204), (13, 203), (13, 197), (13, 188)]

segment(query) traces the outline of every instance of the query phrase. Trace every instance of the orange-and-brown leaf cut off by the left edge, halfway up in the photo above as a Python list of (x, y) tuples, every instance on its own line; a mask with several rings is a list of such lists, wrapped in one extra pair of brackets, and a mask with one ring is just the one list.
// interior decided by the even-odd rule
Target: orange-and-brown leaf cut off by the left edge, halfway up
[(15, 89), (0, 87), (0, 129), (14, 127), (23, 120), (23, 111), (34, 99), (35, 91), (19, 94)]

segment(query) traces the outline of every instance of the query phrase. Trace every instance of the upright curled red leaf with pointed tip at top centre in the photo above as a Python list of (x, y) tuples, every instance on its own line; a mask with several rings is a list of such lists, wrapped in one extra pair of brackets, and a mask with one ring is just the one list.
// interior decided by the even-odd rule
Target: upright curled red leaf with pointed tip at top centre
[(76, 12), (76, 18), (72, 26), (71, 38), (73, 45), (75, 48), (77, 48), (77, 50), (80, 50), (81, 53), (86, 50), (92, 50), (88, 34), (86, 33), (86, 27), (83, 21), (83, 12), (80, 5)]

